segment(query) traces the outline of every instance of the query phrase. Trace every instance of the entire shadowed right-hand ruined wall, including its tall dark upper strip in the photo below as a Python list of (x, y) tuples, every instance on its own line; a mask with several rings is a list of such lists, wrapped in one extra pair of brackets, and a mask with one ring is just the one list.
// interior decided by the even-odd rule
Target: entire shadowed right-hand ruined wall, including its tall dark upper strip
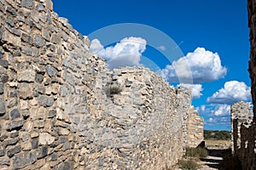
[(241, 161), (243, 169), (256, 169), (256, 2), (247, 1), (248, 26), (250, 29), (251, 53), (249, 73), (253, 96), (253, 117), (249, 105), (237, 103), (231, 106), (232, 150)]

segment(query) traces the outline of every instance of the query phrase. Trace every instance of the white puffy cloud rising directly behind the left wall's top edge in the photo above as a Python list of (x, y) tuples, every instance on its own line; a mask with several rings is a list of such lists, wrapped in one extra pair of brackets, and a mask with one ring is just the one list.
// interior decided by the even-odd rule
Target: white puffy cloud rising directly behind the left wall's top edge
[(147, 42), (141, 37), (125, 37), (114, 46), (104, 48), (98, 39), (90, 44), (90, 52), (106, 59), (110, 69), (128, 65), (139, 65), (141, 56), (146, 50)]

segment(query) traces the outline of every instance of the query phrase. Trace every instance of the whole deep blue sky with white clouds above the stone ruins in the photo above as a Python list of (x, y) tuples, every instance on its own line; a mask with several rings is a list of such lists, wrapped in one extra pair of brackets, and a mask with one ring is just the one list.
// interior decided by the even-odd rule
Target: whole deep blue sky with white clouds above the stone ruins
[(251, 102), (246, 0), (53, 3), (110, 68), (144, 65), (190, 88), (205, 129), (230, 130), (230, 105)]

